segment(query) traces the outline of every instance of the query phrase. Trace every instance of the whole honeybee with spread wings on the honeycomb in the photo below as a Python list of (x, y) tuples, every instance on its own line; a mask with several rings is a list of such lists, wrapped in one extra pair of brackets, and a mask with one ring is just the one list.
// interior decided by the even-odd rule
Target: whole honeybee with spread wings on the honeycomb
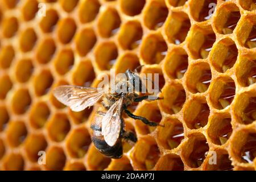
[[(57, 100), (69, 106), (73, 111), (82, 111), (101, 101), (102, 107), (98, 109), (96, 118), (90, 126), (92, 129), (91, 139), (101, 154), (118, 159), (123, 154), (123, 139), (133, 143), (137, 142), (135, 134), (124, 129), (123, 112), (149, 126), (157, 126), (158, 123), (134, 115), (127, 109), (134, 102), (141, 102), (150, 97), (149, 95), (139, 96), (145, 86), (137, 73), (128, 69), (125, 72), (125, 77), (115, 79), (114, 87), (113, 92), (113, 86), (110, 84), (105, 88), (63, 85), (55, 88), (53, 94)], [(158, 99), (156, 97), (150, 100)]]

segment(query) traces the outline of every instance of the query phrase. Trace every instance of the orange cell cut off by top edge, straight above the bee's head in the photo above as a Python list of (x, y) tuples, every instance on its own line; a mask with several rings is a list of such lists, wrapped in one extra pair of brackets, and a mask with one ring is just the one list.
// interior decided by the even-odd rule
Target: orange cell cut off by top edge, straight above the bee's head
[(141, 11), (145, 5), (145, 0), (121, 0), (120, 5), (123, 13), (125, 13), (128, 16), (135, 16), (138, 14), (141, 14)]

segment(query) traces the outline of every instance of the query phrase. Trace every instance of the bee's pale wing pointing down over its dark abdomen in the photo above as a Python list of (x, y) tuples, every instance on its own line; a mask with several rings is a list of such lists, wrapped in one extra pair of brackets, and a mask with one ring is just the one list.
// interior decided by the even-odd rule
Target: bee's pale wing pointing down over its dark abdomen
[(109, 146), (114, 146), (121, 131), (123, 98), (115, 102), (102, 118), (102, 135)]

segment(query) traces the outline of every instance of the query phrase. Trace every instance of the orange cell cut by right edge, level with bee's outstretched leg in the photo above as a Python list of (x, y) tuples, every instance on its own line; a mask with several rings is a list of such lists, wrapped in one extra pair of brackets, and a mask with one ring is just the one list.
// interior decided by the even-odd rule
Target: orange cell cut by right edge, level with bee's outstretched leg
[(238, 95), (234, 104), (235, 116), (240, 123), (249, 125), (256, 121), (256, 94), (254, 90)]

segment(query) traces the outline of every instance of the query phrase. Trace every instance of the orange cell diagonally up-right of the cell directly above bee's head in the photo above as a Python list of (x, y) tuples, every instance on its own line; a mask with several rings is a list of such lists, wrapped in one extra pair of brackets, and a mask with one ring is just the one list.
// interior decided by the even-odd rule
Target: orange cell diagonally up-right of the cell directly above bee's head
[(141, 57), (146, 64), (159, 64), (167, 54), (167, 44), (160, 34), (150, 34), (143, 38)]

